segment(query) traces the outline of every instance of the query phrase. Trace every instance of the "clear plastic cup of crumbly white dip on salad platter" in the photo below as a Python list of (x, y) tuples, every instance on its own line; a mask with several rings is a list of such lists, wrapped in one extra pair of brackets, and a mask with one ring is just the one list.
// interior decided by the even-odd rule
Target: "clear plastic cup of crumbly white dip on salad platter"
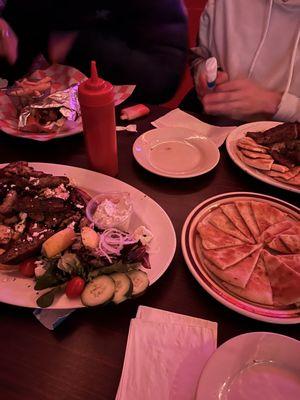
[(128, 231), (131, 215), (132, 202), (127, 192), (100, 193), (86, 207), (87, 218), (99, 229)]

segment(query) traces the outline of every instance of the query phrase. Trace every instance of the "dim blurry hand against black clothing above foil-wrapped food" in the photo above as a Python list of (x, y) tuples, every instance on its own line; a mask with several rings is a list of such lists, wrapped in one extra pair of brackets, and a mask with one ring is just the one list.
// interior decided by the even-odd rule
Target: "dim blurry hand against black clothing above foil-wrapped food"
[(78, 32), (54, 32), (48, 43), (49, 59), (53, 63), (63, 63), (71, 50)]

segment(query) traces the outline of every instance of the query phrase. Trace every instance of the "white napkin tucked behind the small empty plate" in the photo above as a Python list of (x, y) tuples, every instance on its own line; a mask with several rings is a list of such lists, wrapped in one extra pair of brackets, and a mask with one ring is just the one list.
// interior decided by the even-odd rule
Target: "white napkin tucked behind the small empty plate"
[(205, 136), (212, 140), (218, 147), (224, 143), (226, 137), (235, 128), (235, 126), (220, 127), (206, 124), (205, 122), (193, 117), (190, 114), (187, 114), (179, 108), (175, 108), (174, 110), (153, 121), (152, 125), (156, 128), (180, 127), (191, 129), (198, 132), (199, 135)]

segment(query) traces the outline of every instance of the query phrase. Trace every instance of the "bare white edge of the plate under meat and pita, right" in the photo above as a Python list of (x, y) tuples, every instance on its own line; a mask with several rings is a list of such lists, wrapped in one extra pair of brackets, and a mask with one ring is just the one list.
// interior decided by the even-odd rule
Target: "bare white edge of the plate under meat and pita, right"
[(245, 164), (237, 154), (237, 145), (236, 145), (237, 141), (245, 137), (247, 132), (266, 131), (267, 129), (273, 128), (274, 126), (279, 124), (282, 124), (282, 122), (259, 121), (238, 126), (227, 136), (226, 148), (232, 161), (243, 171), (247, 172), (249, 175), (265, 183), (268, 183), (269, 185), (286, 189), (291, 192), (300, 193), (300, 188), (297, 188), (296, 186), (293, 185), (289, 185), (288, 183), (277, 181), (276, 179), (273, 179), (272, 177), (260, 172), (258, 169), (249, 167), (249, 165)]

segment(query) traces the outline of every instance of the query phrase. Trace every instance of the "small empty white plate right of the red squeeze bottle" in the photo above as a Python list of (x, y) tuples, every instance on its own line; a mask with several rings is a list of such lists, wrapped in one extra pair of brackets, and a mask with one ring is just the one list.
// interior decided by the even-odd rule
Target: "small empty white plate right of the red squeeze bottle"
[(191, 178), (212, 170), (219, 162), (218, 147), (186, 128), (152, 129), (133, 144), (136, 161), (154, 174)]

